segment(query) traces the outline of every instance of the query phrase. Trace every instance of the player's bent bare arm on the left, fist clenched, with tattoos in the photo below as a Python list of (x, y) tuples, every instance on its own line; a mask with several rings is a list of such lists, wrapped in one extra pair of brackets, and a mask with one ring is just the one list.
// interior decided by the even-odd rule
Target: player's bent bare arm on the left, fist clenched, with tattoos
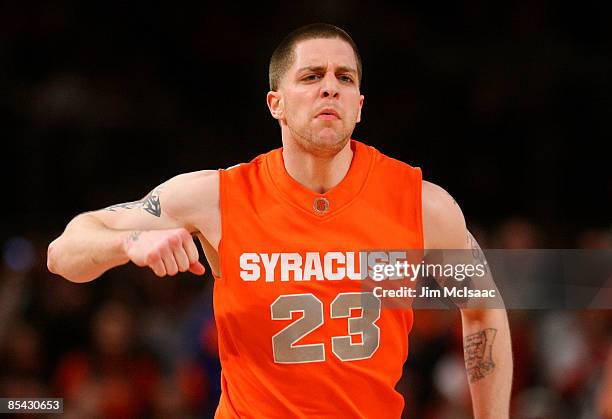
[(80, 214), (49, 245), (47, 266), (73, 282), (91, 281), (130, 261), (158, 276), (203, 274), (191, 233), (207, 236), (215, 225), (218, 184), (217, 171), (186, 173), (139, 201)]

